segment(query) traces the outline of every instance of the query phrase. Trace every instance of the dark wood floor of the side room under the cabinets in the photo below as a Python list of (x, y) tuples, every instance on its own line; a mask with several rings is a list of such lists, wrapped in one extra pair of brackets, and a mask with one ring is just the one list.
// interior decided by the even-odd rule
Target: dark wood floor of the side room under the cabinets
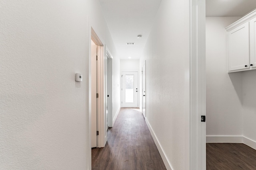
[(256, 150), (242, 143), (206, 143), (206, 170), (256, 170)]

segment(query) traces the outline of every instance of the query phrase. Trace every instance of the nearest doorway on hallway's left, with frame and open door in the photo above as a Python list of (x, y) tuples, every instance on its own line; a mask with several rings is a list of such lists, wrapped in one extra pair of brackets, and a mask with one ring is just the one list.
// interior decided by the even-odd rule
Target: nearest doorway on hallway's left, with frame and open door
[(91, 29), (91, 146), (104, 147), (107, 141), (105, 115), (104, 46), (94, 29)]

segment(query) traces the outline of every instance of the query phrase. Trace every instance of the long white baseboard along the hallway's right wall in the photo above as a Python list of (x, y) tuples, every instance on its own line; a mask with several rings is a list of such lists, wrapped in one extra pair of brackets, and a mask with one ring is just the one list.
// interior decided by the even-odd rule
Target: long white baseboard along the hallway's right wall
[(153, 131), (153, 129), (152, 129), (152, 127), (151, 127), (151, 125), (148, 122), (148, 119), (146, 117), (145, 117), (145, 121), (148, 125), (148, 129), (149, 129), (149, 131), (150, 131), (150, 133), (151, 133), (151, 135), (154, 139), (154, 142), (155, 142), (156, 147), (157, 147), (157, 149), (158, 149), (158, 151), (159, 151), (159, 153), (162, 157), (162, 160), (164, 162), (164, 165), (165, 165), (166, 169), (167, 170), (173, 170), (172, 165), (170, 164), (169, 160), (167, 159), (166, 154), (165, 154), (164, 150), (162, 149), (162, 146), (160, 145), (160, 143), (159, 143), (159, 141), (158, 141), (158, 139), (157, 139), (157, 137), (156, 137), (156, 135), (155, 135), (155, 133), (154, 133), (154, 131)]

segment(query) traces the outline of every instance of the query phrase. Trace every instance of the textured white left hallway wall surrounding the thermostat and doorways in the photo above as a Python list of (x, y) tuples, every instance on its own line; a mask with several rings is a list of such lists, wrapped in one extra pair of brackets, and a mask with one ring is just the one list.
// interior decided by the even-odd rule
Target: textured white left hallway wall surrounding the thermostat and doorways
[(91, 27), (114, 56), (120, 82), (100, 4), (3, 0), (0, 18), (0, 169), (90, 169)]

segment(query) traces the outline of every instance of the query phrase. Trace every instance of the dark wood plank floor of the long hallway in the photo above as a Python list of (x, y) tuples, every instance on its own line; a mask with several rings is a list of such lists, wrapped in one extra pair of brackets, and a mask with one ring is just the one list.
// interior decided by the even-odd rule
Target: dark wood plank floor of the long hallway
[(121, 108), (104, 148), (92, 149), (92, 170), (166, 170), (136, 108)]

